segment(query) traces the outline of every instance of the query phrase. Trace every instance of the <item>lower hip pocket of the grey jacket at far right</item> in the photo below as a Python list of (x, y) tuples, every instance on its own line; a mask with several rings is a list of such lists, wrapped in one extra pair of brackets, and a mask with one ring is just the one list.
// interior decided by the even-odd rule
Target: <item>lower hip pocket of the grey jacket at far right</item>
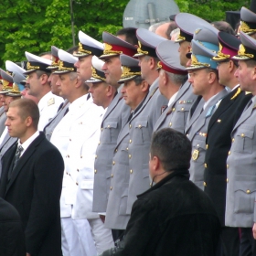
[(242, 181), (240, 176), (236, 176), (234, 183), (234, 212), (251, 214), (254, 212), (256, 180), (253, 180), (255, 179), (253, 176), (241, 176), (241, 178)]

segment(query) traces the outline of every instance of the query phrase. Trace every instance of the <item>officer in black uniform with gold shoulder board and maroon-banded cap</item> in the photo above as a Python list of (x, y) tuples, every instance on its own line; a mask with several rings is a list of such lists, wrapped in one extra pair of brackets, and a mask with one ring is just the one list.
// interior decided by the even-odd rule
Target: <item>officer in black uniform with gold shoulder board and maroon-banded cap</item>
[(212, 199), (222, 226), (217, 255), (238, 256), (239, 229), (225, 227), (226, 187), (229, 182), (229, 165), (226, 161), (232, 142), (230, 133), (250, 101), (251, 94), (240, 90), (239, 81), (234, 76), (238, 64), (231, 57), (237, 55), (240, 40), (225, 32), (219, 32), (219, 46), (218, 56), (213, 58), (219, 61), (219, 83), (226, 85), (231, 91), (216, 104), (217, 110), (208, 123), (204, 191)]

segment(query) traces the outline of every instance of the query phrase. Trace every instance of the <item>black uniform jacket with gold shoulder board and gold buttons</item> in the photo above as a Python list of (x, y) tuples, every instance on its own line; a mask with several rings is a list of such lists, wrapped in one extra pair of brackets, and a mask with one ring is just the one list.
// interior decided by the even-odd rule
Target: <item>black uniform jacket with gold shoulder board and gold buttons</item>
[(240, 87), (222, 99), (208, 123), (207, 152), (205, 158), (205, 192), (212, 199), (221, 225), (225, 222), (227, 157), (231, 147), (230, 133), (240, 115), (251, 100), (252, 94), (240, 91)]

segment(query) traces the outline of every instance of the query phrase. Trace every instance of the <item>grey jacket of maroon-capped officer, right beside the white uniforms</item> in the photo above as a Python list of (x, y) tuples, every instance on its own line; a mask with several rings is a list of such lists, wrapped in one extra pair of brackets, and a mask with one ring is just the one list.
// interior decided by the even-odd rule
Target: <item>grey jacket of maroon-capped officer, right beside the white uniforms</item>
[(105, 212), (111, 187), (112, 157), (117, 137), (127, 122), (131, 109), (118, 93), (101, 122), (101, 137), (94, 162), (93, 212)]

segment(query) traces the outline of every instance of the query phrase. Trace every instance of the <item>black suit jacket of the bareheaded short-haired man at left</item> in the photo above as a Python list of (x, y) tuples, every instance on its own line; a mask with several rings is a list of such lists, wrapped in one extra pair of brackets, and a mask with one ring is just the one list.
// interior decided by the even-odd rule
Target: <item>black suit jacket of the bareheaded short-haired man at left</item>
[(0, 197), (18, 211), (26, 236), (26, 249), (34, 255), (61, 254), (59, 198), (64, 170), (59, 150), (44, 133), (20, 157), (8, 180), (16, 144), (3, 156)]

